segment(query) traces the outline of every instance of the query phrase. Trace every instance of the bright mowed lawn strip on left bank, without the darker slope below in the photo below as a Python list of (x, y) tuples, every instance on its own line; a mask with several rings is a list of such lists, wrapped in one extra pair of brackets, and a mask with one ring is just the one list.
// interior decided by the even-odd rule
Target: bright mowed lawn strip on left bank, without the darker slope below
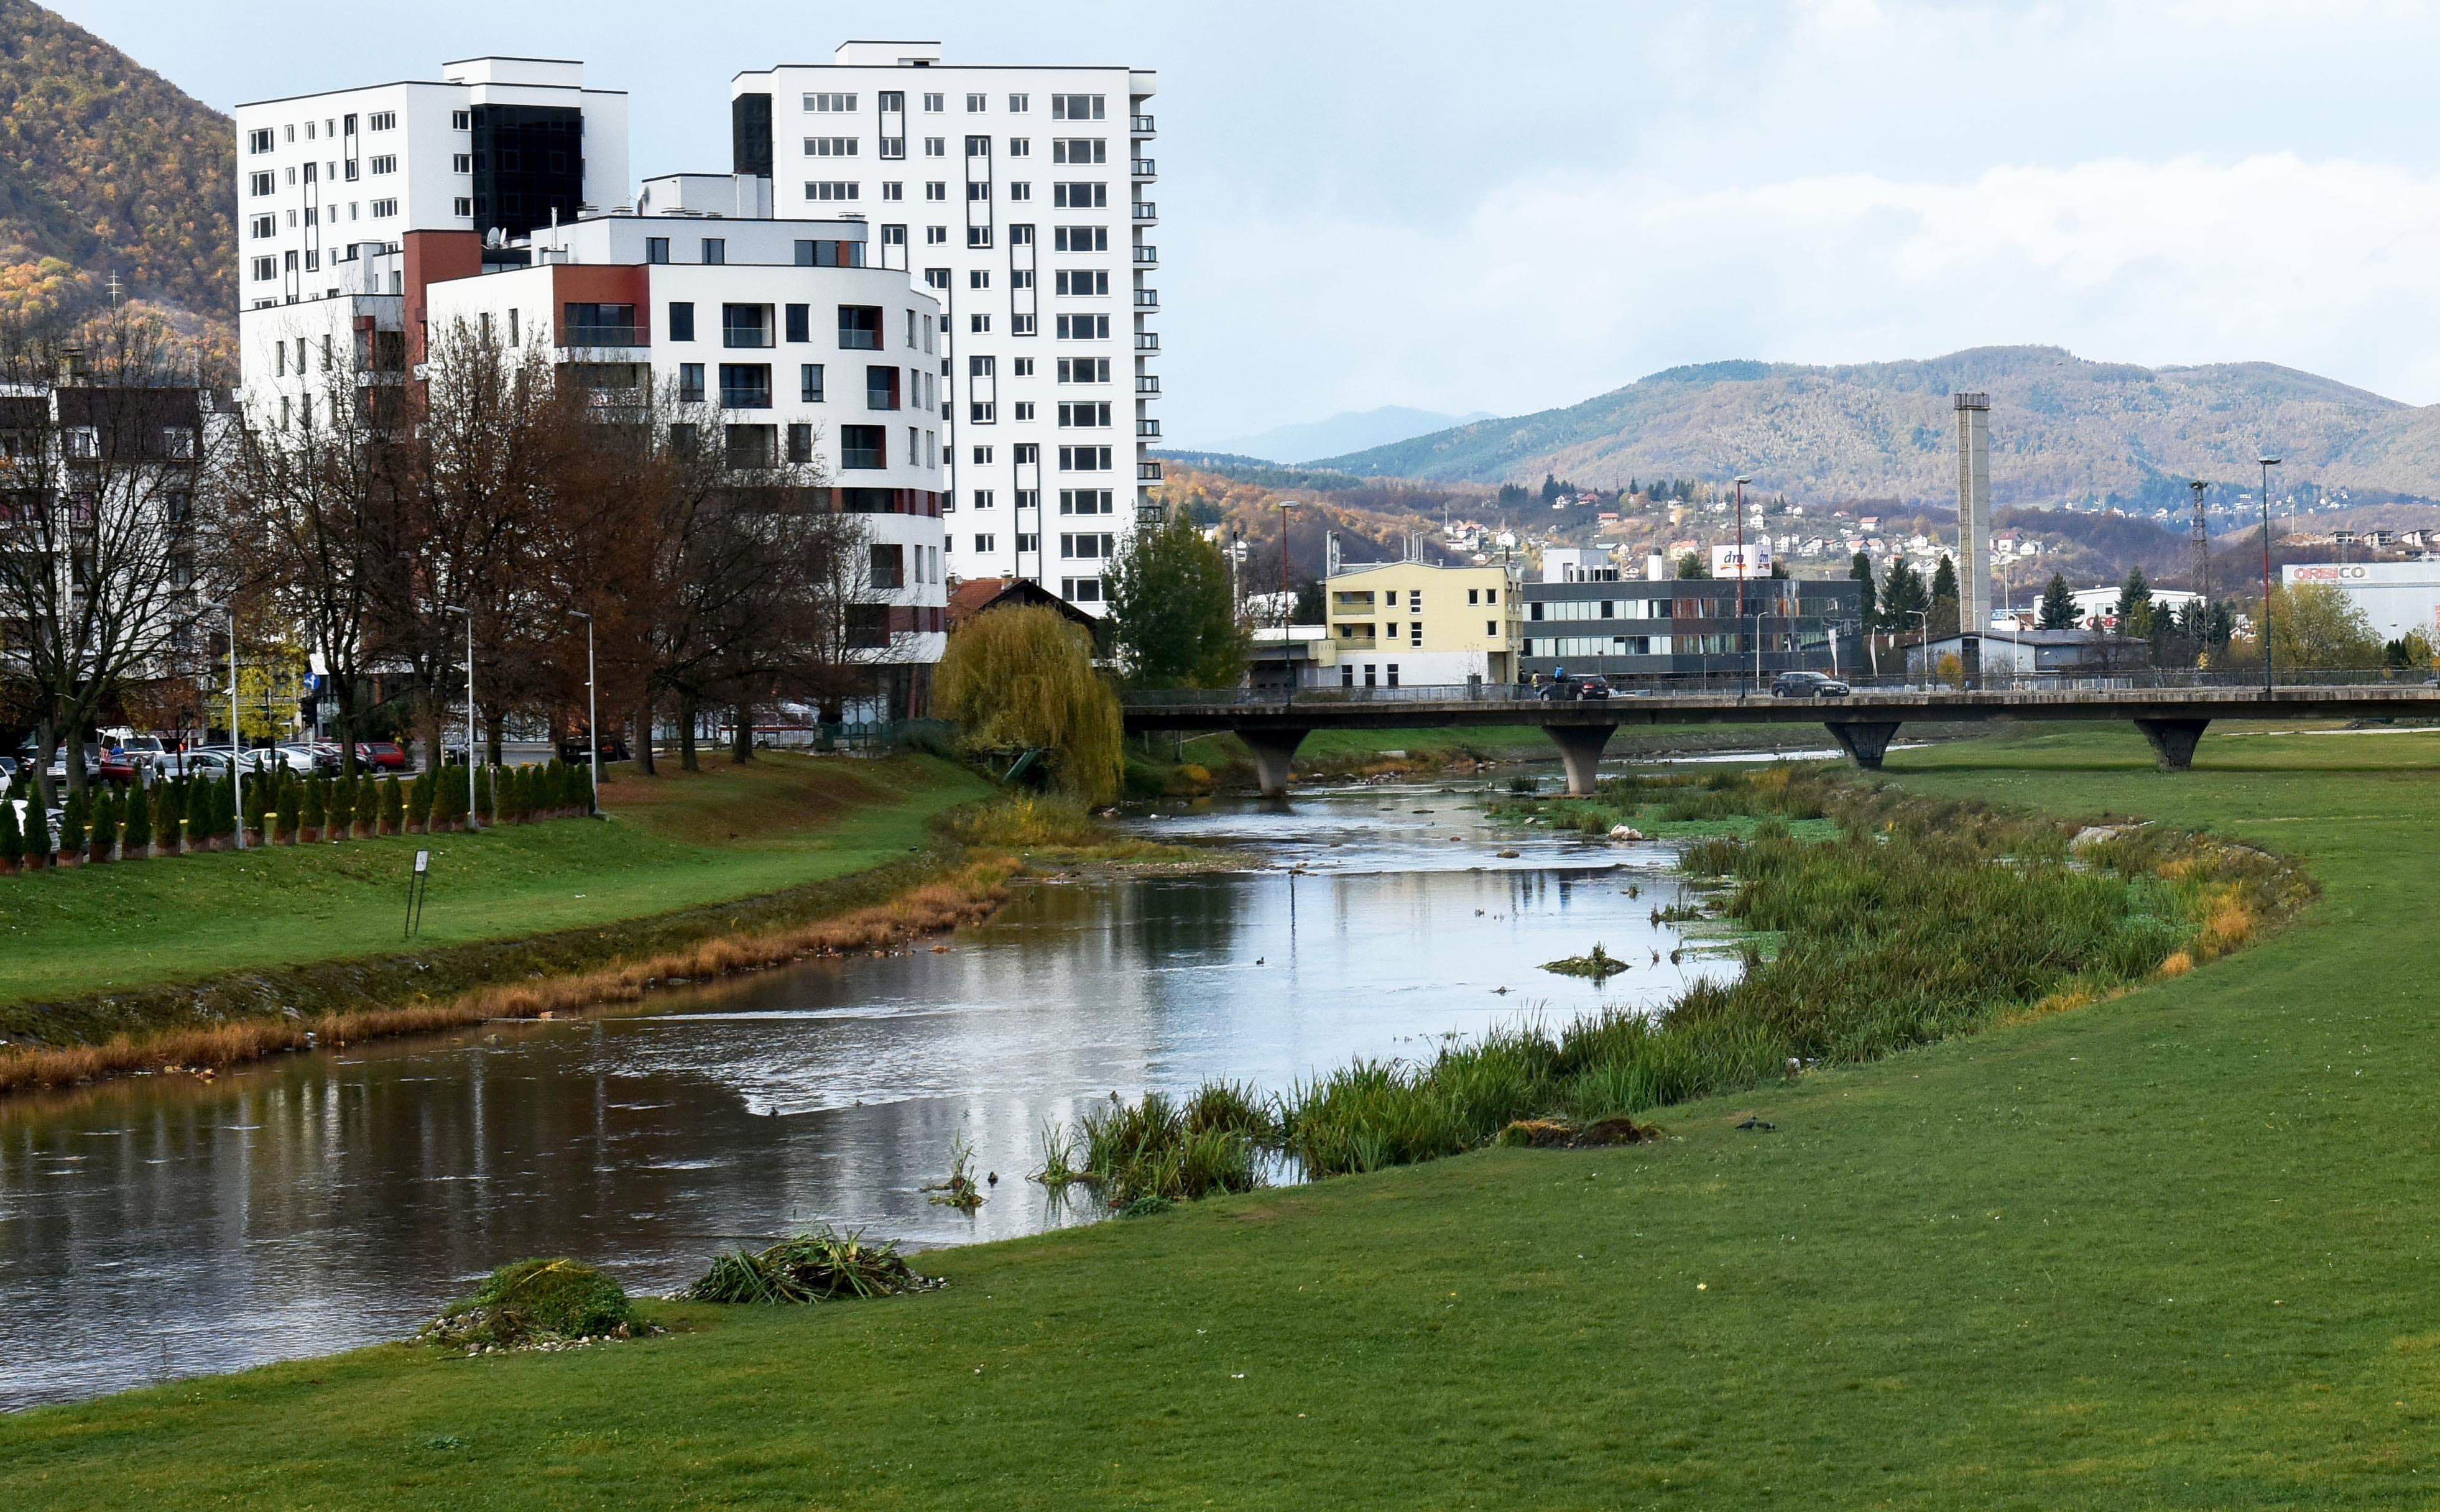
[(403, 949), (407, 871), (432, 851), (422, 944), (512, 939), (749, 897), (878, 866), (981, 797), (927, 756), (708, 756), (603, 783), (608, 822), (271, 846), (0, 878), (0, 1005)]

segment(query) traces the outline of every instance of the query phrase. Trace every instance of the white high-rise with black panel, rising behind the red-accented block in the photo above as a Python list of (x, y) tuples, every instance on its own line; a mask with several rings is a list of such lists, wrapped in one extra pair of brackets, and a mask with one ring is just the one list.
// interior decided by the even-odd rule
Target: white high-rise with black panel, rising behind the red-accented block
[[(359, 244), (522, 237), (627, 202), (627, 95), (561, 59), (464, 59), (439, 80), (237, 107), (237, 302), (342, 288)], [(395, 290), (393, 290), (395, 293)]]

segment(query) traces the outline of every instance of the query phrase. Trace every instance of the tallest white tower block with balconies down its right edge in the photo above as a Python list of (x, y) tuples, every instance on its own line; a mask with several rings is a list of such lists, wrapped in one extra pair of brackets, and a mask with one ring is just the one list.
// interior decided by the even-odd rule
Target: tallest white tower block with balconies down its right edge
[(1161, 463), (1154, 73), (944, 63), (849, 41), (730, 85), (734, 173), (773, 215), (856, 215), (947, 305), (949, 571), (1100, 612)]

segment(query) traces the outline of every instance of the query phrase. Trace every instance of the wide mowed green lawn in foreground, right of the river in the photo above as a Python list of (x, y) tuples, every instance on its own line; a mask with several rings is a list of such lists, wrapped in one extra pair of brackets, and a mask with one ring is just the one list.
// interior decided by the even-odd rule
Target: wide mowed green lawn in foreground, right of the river
[(2433, 734), (2223, 727), (2191, 773), (2123, 729), (1908, 751), (1913, 788), (2279, 846), (2323, 900), (2111, 1002), (1662, 1110), (1657, 1146), (0, 1419), (10, 1502), (2430, 1507), (2435, 771)]

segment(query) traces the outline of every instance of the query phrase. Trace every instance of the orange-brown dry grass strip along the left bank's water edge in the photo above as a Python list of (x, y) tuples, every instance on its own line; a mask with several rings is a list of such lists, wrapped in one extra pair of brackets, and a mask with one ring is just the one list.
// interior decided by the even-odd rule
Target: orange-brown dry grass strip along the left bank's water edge
[(366, 1007), (293, 1019), (244, 1019), (163, 1034), (117, 1034), (102, 1044), (24, 1049), (0, 1054), (0, 1093), (63, 1088), (129, 1071), (195, 1071), (212, 1075), (229, 1066), (285, 1051), (339, 1046), (351, 1039), (390, 1039), (464, 1029), (486, 1019), (542, 1019), (608, 1002), (634, 1002), (669, 978), (722, 978), (769, 971), (815, 956), (888, 951), (925, 934), (971, 924), (1008, 900), (1017, 863), (1005, 856), (971, 861), (956, 875), (913, 888), (891, 902), (837, 919), (817, 919), (769, 934), (717, 934), (693, 946), (583, 971), (571, 975), (490, 985), (449, 1002)]

